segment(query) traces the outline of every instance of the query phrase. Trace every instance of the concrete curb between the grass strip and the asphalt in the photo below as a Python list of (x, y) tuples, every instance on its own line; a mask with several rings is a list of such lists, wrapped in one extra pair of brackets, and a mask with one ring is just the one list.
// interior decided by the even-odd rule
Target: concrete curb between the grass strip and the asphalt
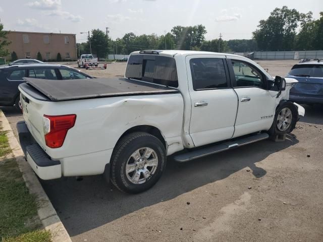
[(17, 160), (26, 186), (31, 194), (36, 195), (36, 203), (38, 205), (37, 213), (44, 229), (51, 231), (53, 242), (72, 242), (61, 219), (57, 215), (55, 208), (52, 206), (45, 191), (41, 187), (36, 174), (28, 162), (26, 162), (24, 152), (22, 151), (20, 144), (10, 127), (8, 119), (2, 110), (0, 110), (0, 123), (2, 124), (3, 130), (8, 132), (7, 137), (9, 144), (12, 149), (12, 153)]

